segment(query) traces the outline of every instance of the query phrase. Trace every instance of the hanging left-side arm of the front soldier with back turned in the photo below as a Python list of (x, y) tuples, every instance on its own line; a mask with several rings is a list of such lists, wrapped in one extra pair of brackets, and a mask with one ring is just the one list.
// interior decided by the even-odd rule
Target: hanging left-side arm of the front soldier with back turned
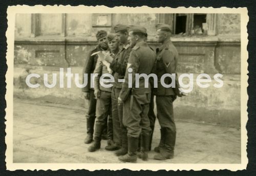
[[(123, 102), (127, 99), (127, 97), (130, 94), (130, 91), (132, 89), (132, 88), (129, 88), (129, 81), (131, 81), (131, 83), (134, 87), (135, 74), (138, 72), (139, 65), (140, 65), (139, 54), (138, 54), (138, 52), (133, 50), (128, 59), (127, 69), (126, 69), (125, 76), (124, 76), (125, 82), (123, 83), (121, 92), (119, 94), (119, 97), (122, 99)], [(127, 71), (129, 68), (133, 69), (133, 72), (130, 73), (130, 74), (132, 74), (132, 80), (129, 80), (129, 72)]]

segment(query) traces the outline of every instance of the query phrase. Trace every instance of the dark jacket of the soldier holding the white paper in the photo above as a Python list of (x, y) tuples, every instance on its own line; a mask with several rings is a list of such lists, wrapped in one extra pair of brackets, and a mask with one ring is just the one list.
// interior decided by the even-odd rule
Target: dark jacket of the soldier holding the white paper
[(118, 82), (119, 79), (124, 79), (126, 67), (128, 58), (130, 56), (130, 53), (132, 51), (132, 46), (130, 44), (127, 44), (126, 46), (123, 46), (121, 49), (121, 52), (119, 55), (112, 61), (110, 64), (110, 68), (115, 72), (114, 78), (115, 78), (115, 87), (121, 89), (122, 83)]

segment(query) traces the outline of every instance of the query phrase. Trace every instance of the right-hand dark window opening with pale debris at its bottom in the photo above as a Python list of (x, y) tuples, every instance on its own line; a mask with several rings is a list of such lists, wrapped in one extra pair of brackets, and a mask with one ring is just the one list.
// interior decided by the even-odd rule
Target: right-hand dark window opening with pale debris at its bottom
[(206, 34), (206, 14), (194, 14), (193, 31), (192, 34)]

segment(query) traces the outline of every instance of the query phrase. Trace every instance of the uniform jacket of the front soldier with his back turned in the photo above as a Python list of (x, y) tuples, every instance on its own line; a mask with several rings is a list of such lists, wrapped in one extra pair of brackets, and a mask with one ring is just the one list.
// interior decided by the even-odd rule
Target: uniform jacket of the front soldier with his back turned
[[(154, 63), (156, 61), (155, 52), (147, 45), (146, 42), (139, 42), (132, 48), (130, 57), (127, 63), (127, 69), (132, 68), (132, 88), (129, 88), (129, 72), (126, 69), (125, 72), (125, 82), (122, 84), (122, 89), (119, 97), (124, 101), (126, 98), (132, 94), (144, 94), (150, 93), (151, 87), (148, 83), (148, 87), (145, 87), (145, 80), (143, 77), (139, 79), (139, 87), (135, 87), (135, 74), (150, 74)], [(130, 80), (131, 81), (131, 80)], [(131, 92), (132, 90), (132, 92)]]

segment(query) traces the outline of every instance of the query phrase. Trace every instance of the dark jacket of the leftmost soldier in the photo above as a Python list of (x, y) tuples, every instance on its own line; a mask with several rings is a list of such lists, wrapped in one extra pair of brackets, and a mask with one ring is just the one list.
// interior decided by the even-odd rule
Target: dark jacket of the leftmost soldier
[(98, 51), (103, 51), (103, 49), (100, 47), (100, 45), (95, 46), (95, 48), (89, 52), (89, 54), (86, 58), (86, 63), (84, 64), (84, 67), (83, 67), (83, 73), (88, 74), (88, 83), (87, 83), (86, 87), (82, 88), (83, 92), (88, 92), (89, 89), (93, 89), (90, 86), (91, 85), (91, 75), (90, 74), (94, 72), (94, 69), (95, 69), (96, 63), (97, 63), (97, 59), (98, 59), (98, 55), (94, 55), (94, 56), (91, 56), (91, 55)]

